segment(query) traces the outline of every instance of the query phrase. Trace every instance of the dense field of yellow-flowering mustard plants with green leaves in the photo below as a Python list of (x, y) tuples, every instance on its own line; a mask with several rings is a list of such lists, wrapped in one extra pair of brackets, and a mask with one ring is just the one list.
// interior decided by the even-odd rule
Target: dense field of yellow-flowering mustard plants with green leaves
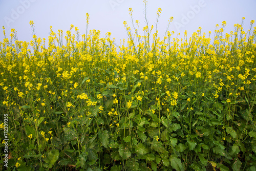
[[(253, 23), (160, 39), (154, 26), (139, 35), (137, 20), (124, 22), (120, 46), (88, 30), (89, 14), (86, 34), (51, 28), (48, 43), (32, 21), (30, 42), (3, 27), (8, 170), (256, 170)], [(4, 155), (0, 163), (5, 170)]]

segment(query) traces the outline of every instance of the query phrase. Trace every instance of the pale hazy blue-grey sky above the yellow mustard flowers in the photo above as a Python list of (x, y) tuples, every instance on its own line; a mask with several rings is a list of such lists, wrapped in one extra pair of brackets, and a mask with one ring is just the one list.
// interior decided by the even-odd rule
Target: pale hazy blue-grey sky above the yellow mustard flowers
[[(226, 20), (225, 32), (234, 30), (234, 24), (241, 24), (244, 20), (244, 29), (247, 31), (250, 20), (256, 20), (255, 0), (148, 0), (147, 18), (150, 26), (156, 23), (157, 9), (162, 13), (159, 19), (159, 37), (162, 39), (167, 29), (168, 19), (174, 20), (169, 31), (174, 31), (175, 36), (185, 30), (190, 37), (199, 27), (202, 31), (214, 34), (216, 24), (221, 25)], [(100, 30), (101, 37), (111, 32), (111, 38), (116, 38), (120, 45), (120, 39), (127, 38), (123, 26), (125, 20), (132, 27), (129, 8), (133, 9), (134, 21), (140, 22), (140, 33), (145, 26), (143, 0), (0, 0), (0, 26), (5, 26), (7, 36), (14, 28), (18, 39), (32, 40), (32, 31), (29, 21), (35, 23), (37, 37), (48, 39), (50, 26), (57, 33), (58, 29), (69, 30), (70, 25), (78, 27), (80, 34), (86, 33), (86, 13), (90, 14), (89, 29)], [(154, 30), (155, 31), (155, 30)], [(72, 32), (74, 33), (74, 32)], [(0, 33), (0, 41), (3, 41), (3, 33)]]

